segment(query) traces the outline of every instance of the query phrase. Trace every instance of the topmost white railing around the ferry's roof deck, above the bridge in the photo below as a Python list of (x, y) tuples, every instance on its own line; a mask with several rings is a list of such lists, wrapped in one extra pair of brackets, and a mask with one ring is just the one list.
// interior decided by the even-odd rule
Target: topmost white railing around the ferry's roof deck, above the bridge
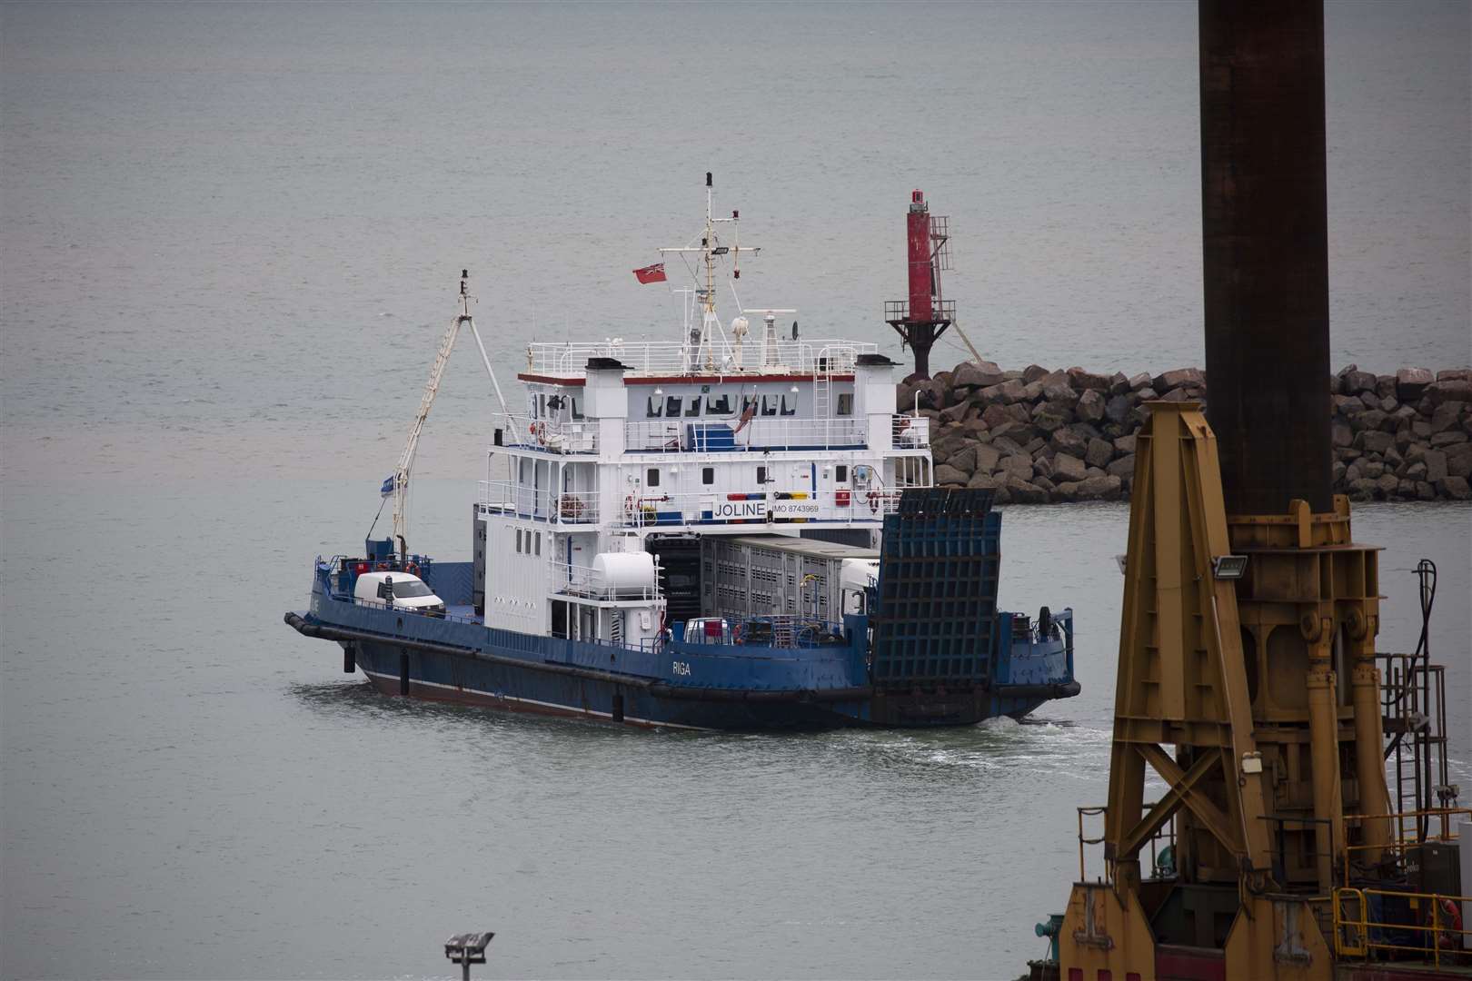
[(634, 375), (760, 375), (773, 371), (848, 374), (854, 371), (860, 354), (876, 353), (877, 344), (846, 340), (777, 341), (770, 352), (762, 352), (760, 341), (737, 347), (724, 338), (717, 338), (702, 350), (680, 341), (568, 341), (527, 344), (526, 371), (531, 375), (581, 377), (589, 357), (612, 357)]

